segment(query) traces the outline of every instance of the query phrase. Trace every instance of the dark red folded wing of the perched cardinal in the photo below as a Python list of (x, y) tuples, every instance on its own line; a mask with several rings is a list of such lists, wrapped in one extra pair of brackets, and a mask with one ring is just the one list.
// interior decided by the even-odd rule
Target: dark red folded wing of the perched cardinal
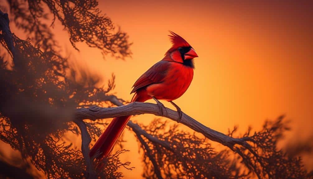
[(167, 70), (170, 67), (170, 63), (167, 61), (159, 61), (141, 75), (133, 85), (134, 89), (131, 93), (134, 93), (139, 88), (148, 86), (154, 83), (160, 83), (166, 76)]

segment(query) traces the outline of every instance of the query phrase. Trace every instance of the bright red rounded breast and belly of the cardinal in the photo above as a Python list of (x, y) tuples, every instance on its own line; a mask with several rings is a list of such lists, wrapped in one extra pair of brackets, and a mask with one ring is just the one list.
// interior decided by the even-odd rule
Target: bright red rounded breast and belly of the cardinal
[(193, 78), (193, 69), (181, 63), (172, 62), (161, 83), (146, 88), (148, 95), (160, 100), (175, 100), (182, 96)]

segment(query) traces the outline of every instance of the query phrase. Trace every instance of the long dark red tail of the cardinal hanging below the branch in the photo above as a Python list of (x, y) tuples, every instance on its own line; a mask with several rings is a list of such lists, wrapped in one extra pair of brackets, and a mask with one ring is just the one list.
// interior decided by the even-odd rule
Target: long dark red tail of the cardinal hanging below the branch
[[(131, 102), (144, 102), (146, 100), (139, 97), (139, 94), (135, 94)], [(96, 141), (95, 145), (90, 149), (89, 156), (96, 156), (97, 159), (109, 156), (130, 118), (131, 116), (115, 117), (99, 137), (98, 141)]]

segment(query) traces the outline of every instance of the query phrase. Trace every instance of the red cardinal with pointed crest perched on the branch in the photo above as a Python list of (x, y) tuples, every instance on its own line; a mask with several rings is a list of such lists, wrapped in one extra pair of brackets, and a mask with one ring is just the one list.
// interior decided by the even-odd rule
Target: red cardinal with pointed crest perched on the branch
[[(154, 99), (163, 112), (161, 108), (164, 109), (164, 106), (158, 100), (167, 100), (177, 108), (179, 122), (182, 112), (172, 100), (179, 98), (189, 87), (193, 77), (193, 58), (198, 55), (185, 39), (172, 31), (170, 33), (172, 47), (161, 61), (137, 79), (131, 91), (135, 93), (131, 102)], [(107, 157), (130, 118), (131, 116), (115, 117), (91, 148), (89, 156), (97, 159)]]

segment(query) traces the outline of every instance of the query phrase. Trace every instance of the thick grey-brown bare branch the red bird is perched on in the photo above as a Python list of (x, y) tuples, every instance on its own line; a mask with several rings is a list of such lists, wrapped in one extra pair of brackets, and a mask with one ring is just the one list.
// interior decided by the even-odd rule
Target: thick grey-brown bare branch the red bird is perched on
[[(111, 107), (111, 108), (101, 108), (101, 107), (89, 107), (89, 108), (79, 108), (75, 111), (76, 120), (96, 120), (96, 119), (105, 119), (119, 116), (127, 115), (140, 115), (140, 114), (154, 114), (157, 116), (162, 116), (169, 118), (171, 120), (177, 121), (177, 112), (166, 108), (167, 113), (161, 114), (159, 107), (152, 103), (142, 103), (142, 102), (133, 102), (128, 105)], [(227, 136), (221, 132), (213, 130), (192, 117), (182, 113), (182, 119), (180, 121), (183, 125), (188, 126), (192, 130), (202, 133), (205, 137), (212, 141), (228, 146), (231, 150), (235, 150), (233, 146), (239, 144), (245, 148), (251, 149), (251, 146), (246, 142), (249, 138), (233, 138)]]

